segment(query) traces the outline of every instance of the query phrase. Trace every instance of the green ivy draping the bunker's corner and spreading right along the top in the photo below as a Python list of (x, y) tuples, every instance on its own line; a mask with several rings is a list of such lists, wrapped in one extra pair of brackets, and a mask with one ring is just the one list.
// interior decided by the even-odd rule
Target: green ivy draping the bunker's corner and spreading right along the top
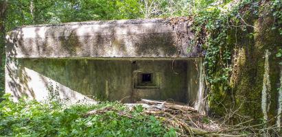
[[(248, 28), (256, 29), (255, 26), (244, 21), (244, 16), (259, 18), (259, 9), (263, 1), (244, 0), (240, 3), (222, 3), (222, 5), (211, 6), (210, 8), (196, 12), (193, 21), (193, 31), (196, 34), (196, 44), (202, 45), (206, 53), (204, 55), (205, 77), (210, 88), (220, 87), (220, 90), (231, 90), (229, 79), (233, 69), (231, 55), (237, 45), (231, 44), (231, 30), (239, 29), (246, 33), (248, 38), (253, 38)], [(233, 4), (233, 5), (232, 5)], [(282, 1), (270, 2), (274, 25), (272, 29), (279, 29), (282, 34)], [(251, 18), (250, 18), (251, 19)], [(277, 57), (282, 58), (282, 53)], [(211, 89), (219, 90), (219, 89)]]

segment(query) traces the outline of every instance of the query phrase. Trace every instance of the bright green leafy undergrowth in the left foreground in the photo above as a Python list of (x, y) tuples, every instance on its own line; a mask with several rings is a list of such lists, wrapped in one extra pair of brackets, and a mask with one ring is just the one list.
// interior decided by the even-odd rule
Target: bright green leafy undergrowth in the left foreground
[[(141, 114), (143, 108), (128, 110), (118, 102), (66, 106), (58, 101), (40, 103), (21, 99), (0, 103), (0, 136), (176, 136), (154, 116)], [(90, 110), (105, 107), (125, 111), (130, 117), (108, 111), (85, 116)]]

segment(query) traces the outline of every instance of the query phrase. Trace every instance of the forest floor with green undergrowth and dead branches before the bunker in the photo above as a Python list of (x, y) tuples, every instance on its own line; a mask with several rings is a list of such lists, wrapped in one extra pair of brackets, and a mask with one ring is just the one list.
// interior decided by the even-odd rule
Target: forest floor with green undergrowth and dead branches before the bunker
[[(65, 105), (4, 95), (0, 136), (257, 136), (250, 121), (226, 125), (182, 103), (141, 99), (137, 103), (99, 102)], [(235, 113), (233, 113), (235, 114)], [(268, 128), (271, 129), (271, 128)], [(266, 131), (265, 129), (263, 131)], [(272, 132), (273, 133), (273, 132)]]

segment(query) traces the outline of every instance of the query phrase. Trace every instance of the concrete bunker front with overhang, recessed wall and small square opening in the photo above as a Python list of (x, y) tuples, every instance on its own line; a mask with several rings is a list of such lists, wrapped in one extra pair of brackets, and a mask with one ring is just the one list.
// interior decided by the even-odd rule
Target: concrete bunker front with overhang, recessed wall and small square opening
[[(35, 25), (8, 33), (5, 92), (47, 99), (173, 100), (204, 109), (202, 49), (191, 22), (168, 19)], [(50, 88), (51, 87), (51, 88)]]

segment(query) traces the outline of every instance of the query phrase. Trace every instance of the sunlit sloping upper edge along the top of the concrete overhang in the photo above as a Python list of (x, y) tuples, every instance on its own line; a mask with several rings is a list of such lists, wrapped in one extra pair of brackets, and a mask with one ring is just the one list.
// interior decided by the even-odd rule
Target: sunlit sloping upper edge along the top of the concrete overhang
[[(132, 25), (133, 28), (143, 27), (143, 30), (130, 29), (130, 25)], [(6, 38), (55, 38), (70, 36), (73, 31), (76, 33), (75, 36), (95, 36), (97, 33), (102, 35), (109, 35), (113, 33), (117, 35), (127, 35), (128, 33), (156, 34), (173, 32), (172, 28), (163, 27), (163, 29), (156, 29), (154, 25), (170, 25), (170, 22), (168, 19), (154, 18), (115, 21), (86, 21), (51, 25), (27, 25), (8, 32)], [(148, 29), (151, 29), (151, 31), (144, 31)]]

